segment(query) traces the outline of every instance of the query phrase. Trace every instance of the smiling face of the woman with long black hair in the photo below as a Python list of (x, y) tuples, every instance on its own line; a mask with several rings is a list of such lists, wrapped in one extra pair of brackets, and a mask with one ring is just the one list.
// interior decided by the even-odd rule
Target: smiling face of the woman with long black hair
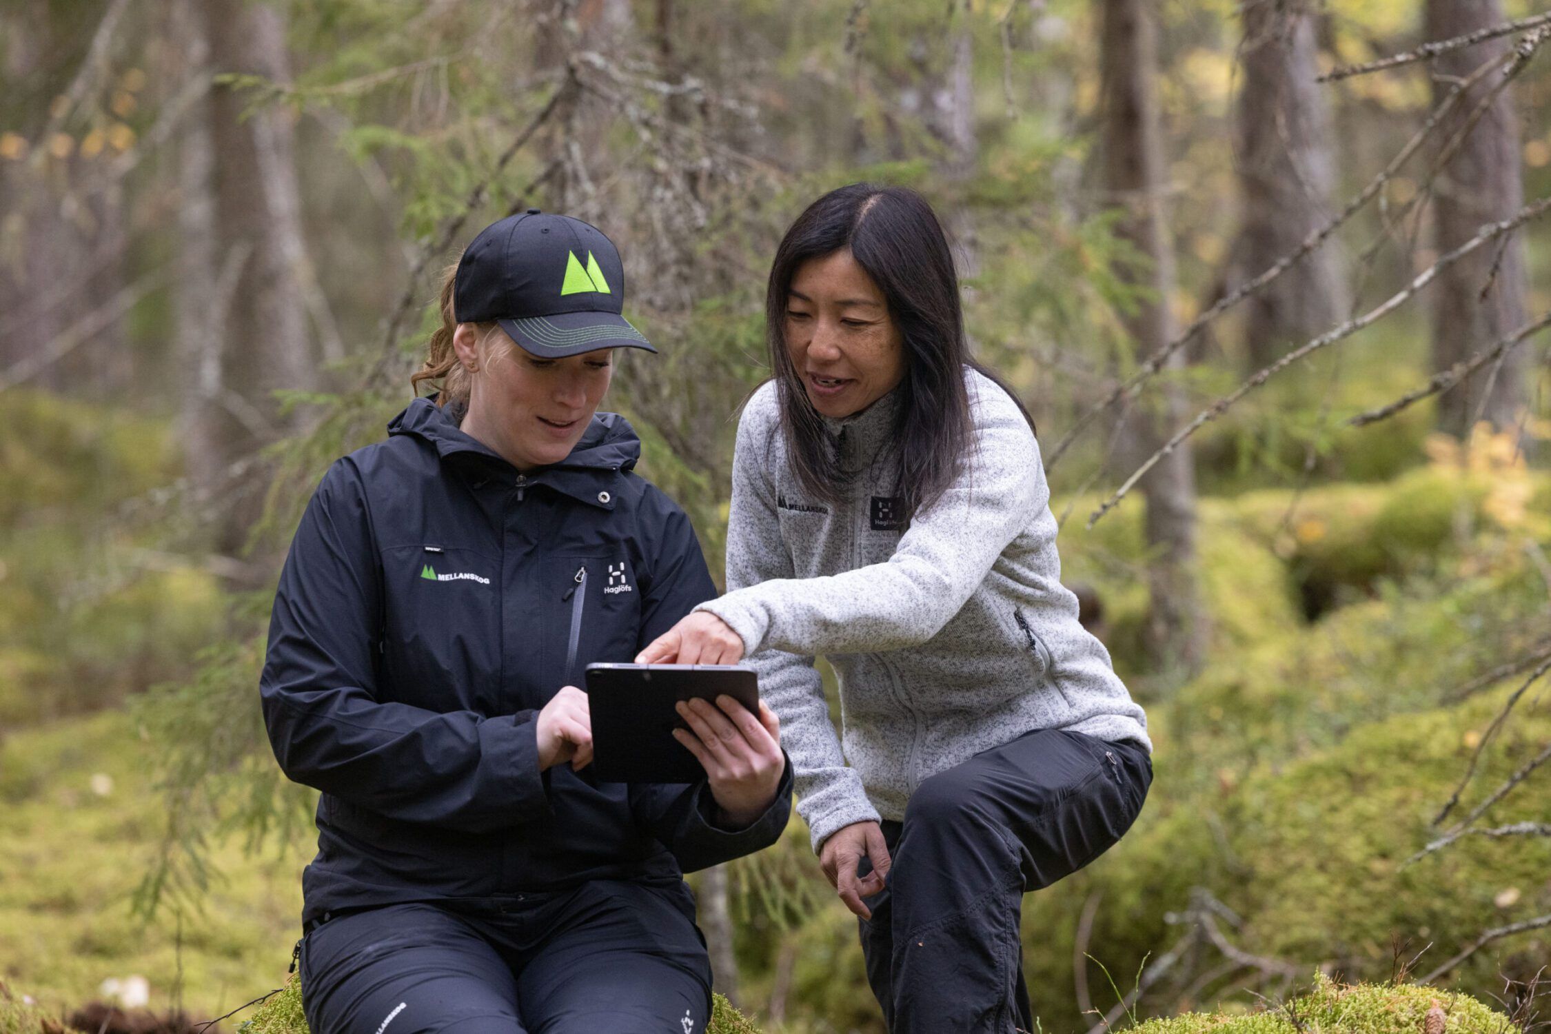
[(797, 267), (783, 333), (808, 400), (827, 417), (861, 412), (904, 380), (904, 338), (850, 248)]

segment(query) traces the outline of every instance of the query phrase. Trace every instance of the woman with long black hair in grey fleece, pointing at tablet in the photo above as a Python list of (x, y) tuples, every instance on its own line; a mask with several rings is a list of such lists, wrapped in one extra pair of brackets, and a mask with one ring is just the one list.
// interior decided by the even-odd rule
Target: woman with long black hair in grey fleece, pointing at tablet
[(969, 357), (931, 206), (820, 197), (776, 253), (766, 321), (729, 592), (641, 659), (758, 670), (890, 1031), (1031, 1029), (1022, 894), (1131, 828), (1146, 718), (1061, 584), (1033, 422)]

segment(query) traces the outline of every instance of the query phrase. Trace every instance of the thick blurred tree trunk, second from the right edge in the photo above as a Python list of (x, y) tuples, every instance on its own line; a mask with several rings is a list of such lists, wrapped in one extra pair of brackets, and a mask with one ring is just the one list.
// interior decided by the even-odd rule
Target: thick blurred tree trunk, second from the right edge
[[(1331, 215), (1329, 115), (1315, 82), (1317, 40), (1306, 0), (1242, 6), (1238, 174), (1244, 219), (1239, 273), (1259, 276)], [(1335, 326), (1349, 305), (1335, 253), (1321, 248), (1245, 301), (1252, 369)]]

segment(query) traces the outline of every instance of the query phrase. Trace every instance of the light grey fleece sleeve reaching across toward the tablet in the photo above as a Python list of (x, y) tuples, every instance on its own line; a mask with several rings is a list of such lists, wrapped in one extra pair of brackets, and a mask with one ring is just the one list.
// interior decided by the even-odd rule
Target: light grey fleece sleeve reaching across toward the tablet
[(971, 388), (971, 411), (974, 439), (959, 474), (912, 518), (886, 563), (819, 578), (788, 572), (701, 609), (724, 620), (749, 654), (883, 653), (929, 640), (1050, 501), (1039, 446), (1016, 403), (999, 388)]

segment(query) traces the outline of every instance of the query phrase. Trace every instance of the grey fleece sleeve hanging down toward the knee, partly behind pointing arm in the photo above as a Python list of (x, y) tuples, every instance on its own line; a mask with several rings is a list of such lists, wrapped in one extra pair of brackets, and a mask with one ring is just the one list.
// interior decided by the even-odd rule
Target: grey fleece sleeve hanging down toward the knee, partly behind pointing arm
[[(727, 516), (729, 594), (704, 608), (717, 614), (721, 612), (721, 601), (738, 597), (740, 591), (793, 577), (791, 553), (782, 539), (776, 490), (768, 474), (766, 457), (774, 433), (774, 423), (760, 419), (752, 405), (738, 422)], [(793, 760), (797, 812), (808, 823), (813, 850), (817, 851), (836, 829), (856, 822), (878, 822), (879, 817), (867, 800), (861, 775), (845, 764), (841, 739), (830, 721), (824, 681), (813, 665), (814, 653), (768, 646), (748, 654), (744, 663), (758, 673), (760, 696), (780, 718), (782, 746)]]

